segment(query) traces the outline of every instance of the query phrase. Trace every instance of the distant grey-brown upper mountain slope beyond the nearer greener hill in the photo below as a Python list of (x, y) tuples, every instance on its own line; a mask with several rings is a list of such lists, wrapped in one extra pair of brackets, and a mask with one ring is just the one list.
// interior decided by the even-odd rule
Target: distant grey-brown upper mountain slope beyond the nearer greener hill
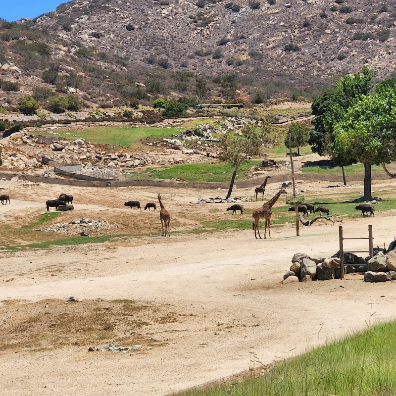
[[(395, 66), (395, 1), (75, 0), (36, 26), (139, 65), (297, 82)], [(257, 80), (260, 77), (263, 80)]]

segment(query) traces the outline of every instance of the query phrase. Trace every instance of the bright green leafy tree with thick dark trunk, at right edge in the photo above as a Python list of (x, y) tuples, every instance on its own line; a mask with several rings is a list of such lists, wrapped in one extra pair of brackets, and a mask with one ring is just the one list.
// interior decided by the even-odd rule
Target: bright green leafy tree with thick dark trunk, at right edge
[(381, 87), (350, 106), (333, 125), (331, 155), (364, 165), (364, 199), (372, 199), (371, 166), (396, 158), (396, 94)]

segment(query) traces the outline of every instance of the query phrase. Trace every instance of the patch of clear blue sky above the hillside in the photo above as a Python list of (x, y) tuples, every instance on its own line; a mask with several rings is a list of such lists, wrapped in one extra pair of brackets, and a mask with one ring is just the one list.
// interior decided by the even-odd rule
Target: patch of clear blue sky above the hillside
[(34, 18), (54, 10), (68, 0), (1, 0), (0, 18), (16, 21), (20, 18)]

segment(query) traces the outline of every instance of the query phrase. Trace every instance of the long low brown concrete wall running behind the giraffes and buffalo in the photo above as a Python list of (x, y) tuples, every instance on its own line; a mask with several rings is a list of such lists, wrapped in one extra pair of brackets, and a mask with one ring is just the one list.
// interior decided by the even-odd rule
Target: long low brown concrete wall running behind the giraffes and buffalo
[[(218, 188), (228, 189), (230, 182), (219, 182), (219, 183), (186, 183), (186, 182), (174, 182), (170, 180), (100, 180), (100, 181), (87, 181), (87, 180), (76, 180), (76, 179), (66, 179), (61, 177), (44, 177), (36, 175), (28, 175), (25, 173), (10, 173), (10, 172), (0, 172), (0, 179), (5, 178), (6, 180), (11, 180), (12, 177), (18, 176), (22, 180), (27, 180), (29, 182), (35, 183), (50, 183), (50, 184), (61, 184), (64, 186), (76, 186), (76, 187), (106, 187), (106, 183), (110, 182), (111, 187), (132, 187), (132, 186), (148, 186), (148, 187), (173, 187), (173, 188), (187, 188), (187, 189), (207, 189), (215, 190)], [(238, 188), (251, 188), (254, 186), (259, 186), (264, 181), (263, 176), (241, 180), (235, 182), (235, 186)], [(384, 174), (374, 174), (372, 175), (373, 180), (389, 180), (390, 177)], [(291, 180), (291, 175), (276, 175), (271, 176), (268, 179), (268, 184), (271, 183), (282, 183), (286, 180)], [(341, 175), (326, 175), (326, 174), (315, 174), (315, 173), (298, 173), (296, 175), (296, 180), (306, 180), (306, 181), (327, 181), (334, 184), (342, 184), (343, 177)], [(360, 182), (363, 184), (363, 175), (348, 175), (347, 183), (350, 182)]]

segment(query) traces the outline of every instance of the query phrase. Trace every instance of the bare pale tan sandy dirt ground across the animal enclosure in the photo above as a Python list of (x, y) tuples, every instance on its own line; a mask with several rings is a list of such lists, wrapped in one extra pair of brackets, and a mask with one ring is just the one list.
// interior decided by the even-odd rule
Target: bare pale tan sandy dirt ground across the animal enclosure
[[(20, 215), (24, 210), (39, 210), (39, 204), (43, 210), (38, 190), (48, 198), (62, 190), (49, 185), (23, 190), (1, 183), (16, 198), (7, 207), (0, 205), (3, 221), (17, 218), (15, 211)], [(355, 191), (358, 196), (359, 188)], [(115, 199), (122, 202), (133, 193), (151, 200), (156, 191), (76, 188), (72, 193), (80, 194), (81, 204), (100, 212), (103, 200), (114, 208), (119, 207)], [(195, 196), (215, 193), (194, 192)], [(171, 213), (182, 204), (185, 211), (207, 210), (188, 205), (194, 199), (191, 191), (166, 194)], [(258, 206), (256, 202), (248, 205)], [(77, 204), (76, 209), (78, 214)], [(119, 210), (123, 215), (132, 213)], [(133, 213), (146, 213), (159, 225), (158, 212)], [(366, 237), (372, 224), (375, 246), (388, 245), (396, 234), (394, 215), (347, 221), (344, 235)], [(302, 227), (300, 237), (289, 224), (273, 228), (271, 235), (271, 240), (255, 240), (251, 229), (166, 239), (155, 235), (123, 244), (0, 253), (0, 306), (11, 299), (39, 301), (73, 295), (84, 300), (152, 301), (185, 314), (163, 333), (148, 326), (143, 331), (164, 345), (132, 356), (91, 353), (88, 346), (0, 351), (0, 395), (166, 395), (247, 370), (253, 354), (269, 363), (362, 329), (370, 313), (375, 312), (372, 322), (395, 317), (393, 282), (364, 283), (362, 275), (350, 274), (345, 280), (282, 284), (295, 252), (328, 256), (338, 250), (337, 223)], [(348, 241), (348, 248), (365, 250), (366, 244)], [(56, 276), (50, 276), (53, 268), (59, 270)], [(4, 314), (0, 319), (10, 318)]]

